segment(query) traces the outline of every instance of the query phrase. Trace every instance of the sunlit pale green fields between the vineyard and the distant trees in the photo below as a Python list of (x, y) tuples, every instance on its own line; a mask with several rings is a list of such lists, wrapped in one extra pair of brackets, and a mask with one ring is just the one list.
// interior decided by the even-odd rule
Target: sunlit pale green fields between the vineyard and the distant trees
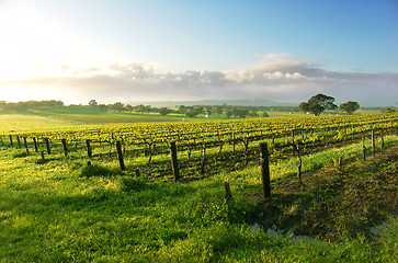
[[(355, 114), (373, 114), (377, 111), (360, 110)], [(268, 112), (270, 117), (303, 117), (307, 114), (300, 112)], [(329, 115), (323, 113), (322, 115)], [(248, 117), (249, 118), (249, 117)], [(158, 113), (117, 113), (100, 112), (89, 107), (68, 106), (41, 108), (39, 111), (27, 112), (26, 114), (0, 114), (0, 133), (59, 129), (72, 127), (87, 127), (92, 125), (106, 124), (137, 124), (137, 123), (159, 123), (159, 122), (197, 122), (197, 121), (220, 121), (227, 119), (226, 116), (211, 115), (208, 118), (197, 116), (187, 118), (182, 114), (170, 114), (161, 116)], [(232, 119), (232, 118), (231, 118)]]

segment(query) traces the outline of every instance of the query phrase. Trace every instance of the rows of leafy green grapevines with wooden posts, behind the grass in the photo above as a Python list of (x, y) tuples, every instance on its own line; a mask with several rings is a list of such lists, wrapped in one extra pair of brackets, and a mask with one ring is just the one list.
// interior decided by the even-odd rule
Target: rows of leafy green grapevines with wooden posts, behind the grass
[[(47, 132), (8, 133), (2, 146), (25, 148), (26, 155), (65, 155), (84, 159), (89, 164), (118, 160), (121, 169), (149, 179), (172, 180), (175, 168), (185, 179), (208, 176), (220, 171), (259, 164), (260, 142), (268, 142), (270, 161), (363, 141), (363, 156), (369, 150), (365, 140), (397, 134), (398, 114), (333, 117), (262, 118), (224, 122), (162, 123), (102, 126)], [(178, 152), (178, 153), (177, 153)], [(178, 156), (178, 159), (177, 159)], [(299, 160), (302, 163), (302, 160)], [(302, 164), (300, 164), (302, 165)], [(174, 180), (175, 180), (174, 171)]]

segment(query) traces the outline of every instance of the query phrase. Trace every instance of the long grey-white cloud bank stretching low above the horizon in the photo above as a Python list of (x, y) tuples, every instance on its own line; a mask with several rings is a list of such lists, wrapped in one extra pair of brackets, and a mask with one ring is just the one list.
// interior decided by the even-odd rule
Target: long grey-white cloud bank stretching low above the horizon
[(53, 76), (0, 79), (2, 93), (19, 87), (30, 89), (30, 94), (58, 95), (75, 103), (91, 99), (104, 103), (237, 99), (299, 103), (317, 93), (334, 96), (337, 102), (398, 101), (397, 72), (333, 72), (288, 54), (266, 55), (255, 65), (227, 71), (160, 72), (153, 65), (115, 62), (89, 68), (64, 65)]

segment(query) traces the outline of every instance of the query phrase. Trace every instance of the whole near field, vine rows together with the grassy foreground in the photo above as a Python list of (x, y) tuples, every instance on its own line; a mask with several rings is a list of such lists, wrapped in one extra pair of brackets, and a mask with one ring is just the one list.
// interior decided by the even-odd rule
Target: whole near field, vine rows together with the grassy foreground
[(397, 121), (2, 133), (0, 261), (396, 262)]

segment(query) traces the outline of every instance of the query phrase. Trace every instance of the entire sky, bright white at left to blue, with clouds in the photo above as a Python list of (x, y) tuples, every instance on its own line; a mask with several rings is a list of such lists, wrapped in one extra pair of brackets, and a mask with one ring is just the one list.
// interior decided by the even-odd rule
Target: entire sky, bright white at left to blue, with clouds
[(0, 101), (397, 105), (398, 0), (0, 0)]

